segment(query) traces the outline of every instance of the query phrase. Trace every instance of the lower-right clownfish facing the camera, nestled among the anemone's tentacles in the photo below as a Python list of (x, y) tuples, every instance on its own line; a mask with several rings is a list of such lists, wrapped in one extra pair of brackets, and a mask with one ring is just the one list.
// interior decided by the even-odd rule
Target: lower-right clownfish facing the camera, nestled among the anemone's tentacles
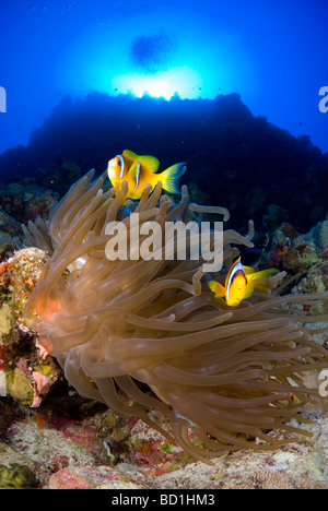
[(235, 307), (245, 298), (249, 298), (255, 289), (269, 293), (272, 284), (268, 277), (277, 273), (276, 269), (255, 272), (250, 266), (243, 266), (238, 258), (227, 272), (224, 286), (216, 281), (210, 281), (208, 285), (215, 298), (224, 298), (229, 306)]

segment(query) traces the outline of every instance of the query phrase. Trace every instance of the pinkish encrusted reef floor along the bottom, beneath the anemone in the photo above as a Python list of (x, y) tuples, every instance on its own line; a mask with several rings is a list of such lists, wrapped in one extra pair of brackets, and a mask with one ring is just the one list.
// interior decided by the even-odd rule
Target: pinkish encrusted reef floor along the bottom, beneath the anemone
[[(7, 414), (13, 409), (9, 403), (7, 407)], [(210, 466), (191, 459), (161, 463), (160, 450), (163, 454), (172, 449), (163, 437), (142, 420), (136, 418), (131, 427), (131, 419), (119, 418), (75, 393), (54, 395), (38, 412), (26, 411), (11, 417), (7, 441), (0, 438), (1, 464), (8, 471), (12, 471), (11, 465), (27, 467), (30, 484), (37, 488), (327, 489), (327, 413), (305, 415), (313, 421), (303, 426), (313, 433), (312, 438), (300, 438), (300, 443), (290, 442), (272, 451), (245, 449), (225, 453), (213, 459)], [(116, 456), (108, 448), (108, 433), (114, 426), (116, 435), (121, 431), (125, 444)], [(113, 441), (110, 445), (114, 449)], [(176, 460), (183, 456), (178, 448), (172, 454)], [(11, 472), (7, 480), (15, 474)], [(20, 484), (26, 487), (25, 480), (17, 478), (15, 487)]]

